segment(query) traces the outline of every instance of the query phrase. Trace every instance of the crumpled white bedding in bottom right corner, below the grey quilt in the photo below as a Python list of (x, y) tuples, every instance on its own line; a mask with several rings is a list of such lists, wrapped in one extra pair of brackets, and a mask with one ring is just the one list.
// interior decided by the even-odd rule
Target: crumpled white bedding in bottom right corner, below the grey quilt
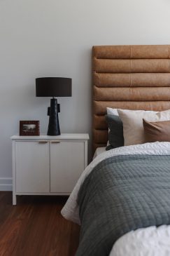
[(130, 231), (113, 245), (109, 256), (169, 256), (170, 225)]

